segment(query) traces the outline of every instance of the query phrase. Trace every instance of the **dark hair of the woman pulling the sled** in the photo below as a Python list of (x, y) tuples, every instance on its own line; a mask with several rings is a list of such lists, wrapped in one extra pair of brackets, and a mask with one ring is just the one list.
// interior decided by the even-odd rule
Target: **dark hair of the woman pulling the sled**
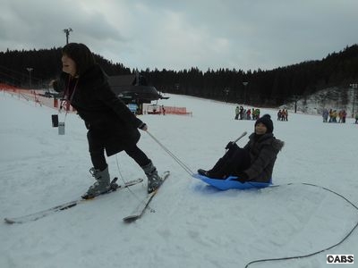
[(81, 75), (96, 63), (90, 48), (81, 43), (67, 44), (62, 49), (62, 54), (67, 55), (76, 63), (78, 75)]

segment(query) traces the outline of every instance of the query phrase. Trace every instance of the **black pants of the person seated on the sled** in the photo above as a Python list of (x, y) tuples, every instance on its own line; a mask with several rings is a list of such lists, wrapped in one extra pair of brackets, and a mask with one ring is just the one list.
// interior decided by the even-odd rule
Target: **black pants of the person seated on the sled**
[(249, 152), (234, 145), (217, 161), (210, 172), (216, 174), (217, 178), (223, 178), (243, 172), (250, 167), (250, 164)]

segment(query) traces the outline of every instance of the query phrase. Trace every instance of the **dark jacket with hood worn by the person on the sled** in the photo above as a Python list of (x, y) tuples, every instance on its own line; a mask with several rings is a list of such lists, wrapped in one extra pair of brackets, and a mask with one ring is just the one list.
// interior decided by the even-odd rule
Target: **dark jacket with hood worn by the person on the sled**
[(275, 138), (272, 133), (258, 137), (252, 133), (249, 142), (243, 147), (251, 158), (251, 165), (244, 170), (248, 180), (268, 182), (271, 180), (278, 152), (284, 147), (284, 142)]

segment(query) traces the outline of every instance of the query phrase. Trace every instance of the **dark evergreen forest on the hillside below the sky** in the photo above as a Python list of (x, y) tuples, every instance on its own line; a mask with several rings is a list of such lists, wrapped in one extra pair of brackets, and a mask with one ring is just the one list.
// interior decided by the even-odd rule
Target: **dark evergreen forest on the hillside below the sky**
[[(136, 70), (95, 54), (108, 75)], [(47, 88), (61, 72), (61, 48), (0, 52), (0, 82), (22, 88)], [(30, 69), (29, 69), (30, 68)], [(310, 96), (323, 88), (349, 88), (358, 82), (358, 45), (346, 46), (320, 61), (308, 61), (274, 70), (201, 71), (142, 70), (141, 74), (158, 91), (200, 96), (246, 105), (277, 106), (295, 98)], [(30, 85), (31, 83), (31, 85)]]

